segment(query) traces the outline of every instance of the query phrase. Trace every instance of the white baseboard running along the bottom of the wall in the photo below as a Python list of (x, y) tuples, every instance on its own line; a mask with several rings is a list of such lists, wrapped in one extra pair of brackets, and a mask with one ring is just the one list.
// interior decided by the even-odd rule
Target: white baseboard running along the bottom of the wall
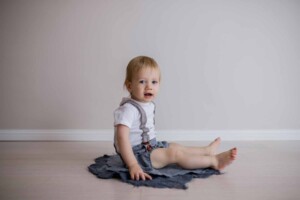
[[(161, 130), (158, 140), (209, 141), (216, 137), (222, 140), (300, 140), (300, 130)], [(0, 141), (112, 141), (112, 129), (84, 130), (20, 130), (0, 129)]]

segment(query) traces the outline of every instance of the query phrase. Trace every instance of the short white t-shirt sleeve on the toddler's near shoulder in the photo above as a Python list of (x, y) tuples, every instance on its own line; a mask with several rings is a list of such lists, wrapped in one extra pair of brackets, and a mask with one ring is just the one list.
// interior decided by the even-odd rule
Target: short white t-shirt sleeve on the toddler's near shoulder
[(120, 106), (114, 112), (114, 126), (122, 124), (131, 128), (134, 122), (135, 115), (135, 110), (132, 109), (131, 105), (125, 104), (123, 106)]

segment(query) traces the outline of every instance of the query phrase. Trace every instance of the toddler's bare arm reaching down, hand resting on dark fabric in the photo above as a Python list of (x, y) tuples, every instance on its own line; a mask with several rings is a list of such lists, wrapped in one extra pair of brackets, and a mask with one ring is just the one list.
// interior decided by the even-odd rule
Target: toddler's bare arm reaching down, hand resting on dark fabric
[(139, 166), (129, 141), (129, 128), (125, 125), (117, 125), (117, 140), (119, 145), (120, 154), (128, 167), (130, 177), (132, 180), (152, 179), (151, 176), (145, 173)]

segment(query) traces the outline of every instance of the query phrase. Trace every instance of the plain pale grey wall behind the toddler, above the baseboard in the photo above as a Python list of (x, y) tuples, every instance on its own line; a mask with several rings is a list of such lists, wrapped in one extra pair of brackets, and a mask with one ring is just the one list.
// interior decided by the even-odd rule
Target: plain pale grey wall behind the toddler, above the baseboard
[(111, 129), (128, 61), (158, 129), (300, 129), (300, 1), (0, 2), (0, 129)]

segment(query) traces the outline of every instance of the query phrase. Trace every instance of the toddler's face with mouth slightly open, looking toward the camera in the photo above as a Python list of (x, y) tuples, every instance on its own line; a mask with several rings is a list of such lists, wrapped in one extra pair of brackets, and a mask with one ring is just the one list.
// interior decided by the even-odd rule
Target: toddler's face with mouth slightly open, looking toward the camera
[(147, 67), (140, 70), (127, 85), (131, 98), (140, 102), (151, 102), (158, 93), (159, 78), (157, 69)]

